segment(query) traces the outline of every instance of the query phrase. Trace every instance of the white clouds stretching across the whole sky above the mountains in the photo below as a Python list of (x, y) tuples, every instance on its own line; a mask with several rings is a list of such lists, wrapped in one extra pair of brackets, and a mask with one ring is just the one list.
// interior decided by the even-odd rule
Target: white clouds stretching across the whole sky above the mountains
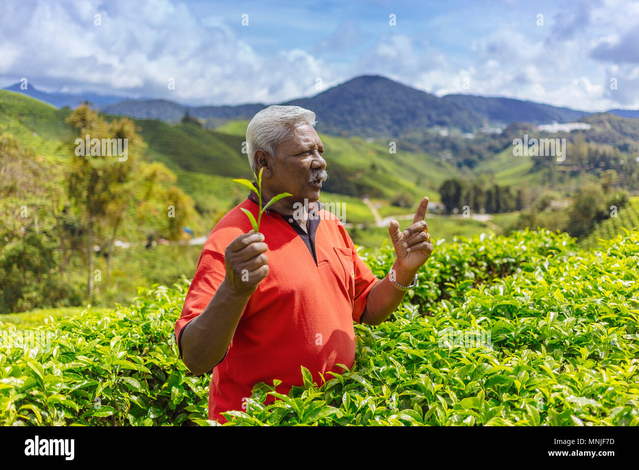
[[(374, 29), (353, 20), (335, 20), (332, 33), (314, 47), (294, 41), (258, 47), (255, 36), (243, 35), (239, 20), (231, 25), (215, 15), (199, 17), (171, 0), (141, 0), (134, 7), (124, 0), (4, 0), (3, 13), (0, 77), (6, 82), (27, 77), (40, 88), (46, 88), (38, 85), (42, 82), (70, 92), (199, 105), (273, 103), (316, 94), (317, 78), (327, 88), (355, 75), (381, 74), (440, 96), (515, 97), (587, 111), (639, 108), (639, 65), (623, 55), (626, 49), (639, 51), (636, 45), (624, 49), (639, 26), (639, 2), (568, 4), (548, 13), (543, 27), (496, 22), (482, 36), (461, 31), (467, 51), (457, 54), (436, 46), (427, 34), (397, 29), (371, 36)], [(96, 13), (102, 26), (93, 24)], [(265, 41), (272, 44), (271, 39)], [(373, 45), (349, 55), (365, 43)], [(606, 60), (606, 51), (617, 59)], [(610, 90), (611, 77), (618, 79), (617, 90)], [(176, 90), (168, 90), (169, 78)], [(465, 79), (470, 90), (463, 87)]]

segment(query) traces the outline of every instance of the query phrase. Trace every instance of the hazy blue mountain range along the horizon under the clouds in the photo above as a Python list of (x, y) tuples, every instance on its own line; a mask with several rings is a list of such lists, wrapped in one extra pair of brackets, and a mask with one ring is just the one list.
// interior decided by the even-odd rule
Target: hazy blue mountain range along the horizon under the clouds
[[(84, 101), (105, 114), (158, 119), (174, 122), (189, 111), (202, 119), (250, 119), (265, 104), (240, 106), (186, 106), (168, 100), (131, 100), (112, 95), (84, 93), (45, 93), (33, 86), (20, 90), (14, 84), (8, 91), (24, 93), (56, 107), (75, 107)], [(534, 124), (566, 123), (590, 113), (513, 98), (488, 98), (473, 95), (446, 95), (438, 98), (378, 75), (362, 75), (325, 90), (311, 98), (290, 100), (282, 105), (296, 105), (317, 114), (317, 129), (332, 135), (364, 137), (400, 136), (404, 132), (432, 127), (472, 132), (486, 125), (513, 122)], [(611, 109), (609, 113), (639, 118), (639, 110)]]

